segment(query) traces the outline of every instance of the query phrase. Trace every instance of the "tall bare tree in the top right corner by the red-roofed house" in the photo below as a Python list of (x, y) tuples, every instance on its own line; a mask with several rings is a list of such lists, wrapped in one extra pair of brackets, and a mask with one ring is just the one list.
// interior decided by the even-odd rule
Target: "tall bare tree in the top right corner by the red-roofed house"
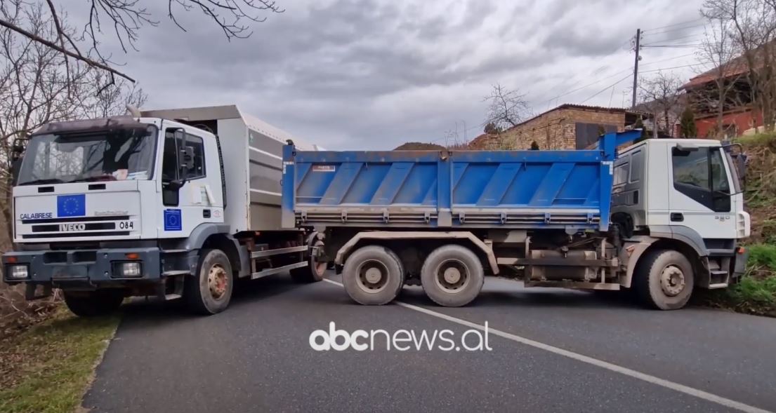
[(708, 19), (729, 25), (734, 44), (747, 63), (753, 108), (763, 115), (765, 129), (776, 122), (776, 0), (705, 0)]

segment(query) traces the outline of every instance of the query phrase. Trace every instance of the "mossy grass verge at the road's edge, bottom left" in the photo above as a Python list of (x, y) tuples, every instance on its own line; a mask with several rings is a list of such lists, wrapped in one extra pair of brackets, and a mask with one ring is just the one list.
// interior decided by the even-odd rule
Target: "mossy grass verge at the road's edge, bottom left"
[(78, 318), (61, 309), (0, 342), (0, 411), (74, 411), (118, 323), (118, 315)]

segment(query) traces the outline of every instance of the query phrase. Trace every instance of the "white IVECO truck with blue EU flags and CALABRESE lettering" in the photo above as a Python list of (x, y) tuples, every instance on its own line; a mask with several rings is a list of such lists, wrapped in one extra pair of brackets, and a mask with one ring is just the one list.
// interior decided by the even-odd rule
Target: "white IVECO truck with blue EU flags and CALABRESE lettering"
[(83, 316), (133, 295), (214, 314), (237, 278), (320, 280), (317, 232), (280, 227), (289, 139), (234, 105), (47, 124), (15, 164), (4, 280)]

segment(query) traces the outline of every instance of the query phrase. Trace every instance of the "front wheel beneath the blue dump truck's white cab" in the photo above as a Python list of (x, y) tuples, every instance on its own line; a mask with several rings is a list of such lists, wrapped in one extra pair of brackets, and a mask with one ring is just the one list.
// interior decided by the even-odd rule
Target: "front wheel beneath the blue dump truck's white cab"
[(632, 285), (644, 305), (678, 310), (690, 300), (695, 286), (692, 264), (674, 250), (654, 250), (639, 260)]

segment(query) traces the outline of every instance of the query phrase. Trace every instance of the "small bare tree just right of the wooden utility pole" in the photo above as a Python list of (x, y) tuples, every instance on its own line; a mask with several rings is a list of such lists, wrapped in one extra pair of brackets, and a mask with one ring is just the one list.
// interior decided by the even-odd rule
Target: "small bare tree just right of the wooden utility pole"
[[(653, 77), (643, 79), (639, 84), (641, 99), (643, 105), (655, 115), (655, 119), (660, 116), (663, 118), (665, 133), (674, 136), (671, 126), (671, 114), (681, 112), (681, 95), (678, 89), (681, 88), (680, 78), (673, 72), (658, 71)], [(655, 131), (657, 130), (657, 121), (655, 122)]]

